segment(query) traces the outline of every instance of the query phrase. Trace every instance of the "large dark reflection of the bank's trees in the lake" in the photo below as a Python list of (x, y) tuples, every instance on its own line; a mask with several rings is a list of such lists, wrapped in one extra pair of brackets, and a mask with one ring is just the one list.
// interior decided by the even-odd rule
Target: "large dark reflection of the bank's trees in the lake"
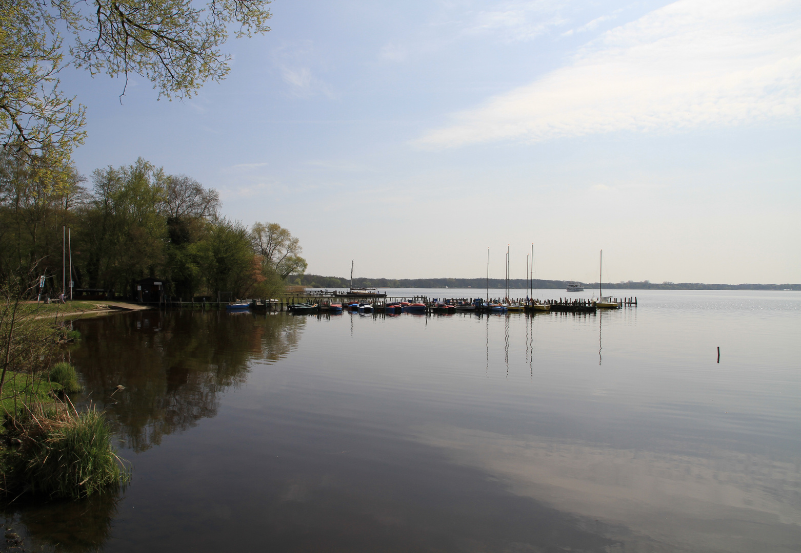
[[(82, 321), (71, 352), (87, 399), (107, 411), (125, 446), (145, 451), (163, 435), (217, 414), (217, 395), (275, 362), (300, 339), (304, 317), (143, 311)], [(124, 387), (115, 391), (118, 385)], [(112, 395), (113, 394), (113, 395)]]

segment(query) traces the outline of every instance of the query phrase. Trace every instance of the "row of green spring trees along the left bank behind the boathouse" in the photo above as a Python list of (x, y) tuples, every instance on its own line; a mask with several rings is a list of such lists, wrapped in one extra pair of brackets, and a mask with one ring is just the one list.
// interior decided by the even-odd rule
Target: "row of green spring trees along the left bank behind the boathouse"
[[(71, 251), (77, 289), (130, 296), (136, 281), (155, 277), (184, 299), (218, 292), (268, 298), (306, 269), (289, 230), (224, 217), (217, 191), (187, 175), (166, 174), (142, 158), (97, 169), (90, 182), (72, 166), (58, 174), (30, 170), (13, 156), (0, 160), (3, 279), (34, 283), (44, 275), (46, 293), (58, 295)], [(67, 295), (69, 281), (67, 274)]]

